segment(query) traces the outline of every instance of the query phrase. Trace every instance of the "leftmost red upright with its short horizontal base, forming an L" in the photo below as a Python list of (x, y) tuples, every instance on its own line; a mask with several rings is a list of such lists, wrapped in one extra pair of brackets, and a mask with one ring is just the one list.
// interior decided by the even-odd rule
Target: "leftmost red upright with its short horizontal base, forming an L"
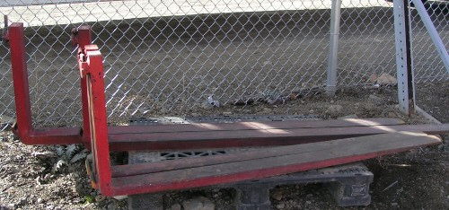
[(78, 144), (81, 143), (81, 129), (55, 127), (35, 129), (31, 121), (30, 89), (25, 61), (23, 23), (14, 22), (8, 28), (13, 68), (13, 87), (17, 122), (13, 127), (15, 135), (24, 144)]

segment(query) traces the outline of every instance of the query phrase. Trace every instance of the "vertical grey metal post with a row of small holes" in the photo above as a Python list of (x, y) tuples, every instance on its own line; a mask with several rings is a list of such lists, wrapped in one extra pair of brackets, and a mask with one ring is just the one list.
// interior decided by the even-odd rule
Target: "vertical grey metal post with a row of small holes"
[(405, 114), (411, 114), (415, 105), (408, 5), (408, 0), (393, 0), (398, 102)]

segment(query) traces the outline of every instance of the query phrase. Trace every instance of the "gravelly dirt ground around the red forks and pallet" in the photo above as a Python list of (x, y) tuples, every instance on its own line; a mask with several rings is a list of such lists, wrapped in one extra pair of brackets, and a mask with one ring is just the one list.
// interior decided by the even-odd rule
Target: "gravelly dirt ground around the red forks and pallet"
[[(424, 118), (403, 116), (397, 111), (394, 87), (342, 90), (333, 99), (321, 94), (288, 101), (251, 106), (225, 106), (198, 111), (199, 115), (277, 114), (282, 109), (295, 109), (298, 114), (317, 114), (321, 118), (357, 115), (359, 118), (401, 118), (409, 124)], [(447, 101), (449, 83), (436, 83), (418, 88), (428, 98), (421, 107), (442, 122), (449, 122)], [(432, 92), (432, 94), (427, 94)], [(374, 97), (375, 96), (375, 97)], [(431, 101), (431, 103), (427, 103)], [(339, 111), (330, 106), (341, 105)], [(98, 195), (89, 187), (84, 170), (81, 146), (27, 146), (9, 132), (0, 141), (0, 204), (2, 209), (127, 209), (127, 199), (116, 200)], [(371, 185), (372, 204), (367, 209), (447, 209), (449, 207), (449, 166), (447, 138), (445, 144), (420, 148), (407, 153), (366, 161), (374, 172)], [(392, 185), (392, 186), (391, 186)], [(389, 187), (391, 186), (391, 187)], [(233, 190), (189, 190), (169, 193), (164, 206), (203, 196), (216, 209), (233, 209)], [(280, 186), (271, 191), (275, 209), (337, 209), (333, 198), (320, 184)], [(359, 207), (350, 207), (359, 208)]]

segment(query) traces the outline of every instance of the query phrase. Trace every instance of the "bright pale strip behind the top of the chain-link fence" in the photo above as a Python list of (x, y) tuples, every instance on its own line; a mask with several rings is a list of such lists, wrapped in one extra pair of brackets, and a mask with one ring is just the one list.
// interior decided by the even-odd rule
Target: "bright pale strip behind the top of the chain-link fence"
[[(13, 4), (7, 0), (0, 3), (0, 14), (8, 15), (10, 22), (24, 22), (25, 27), (32, 27), (200, 14), (322, 10), (330, 9), (331, 3), (330, 0), (242, 0), (231, 3), (225, 0), (22, 0)], [(341, 8), (365, 7), (388, 8), (392, 4), (384, 0), (342, 0), (341, 4)], [(132, 13), (129, 13), (131, 9)]]

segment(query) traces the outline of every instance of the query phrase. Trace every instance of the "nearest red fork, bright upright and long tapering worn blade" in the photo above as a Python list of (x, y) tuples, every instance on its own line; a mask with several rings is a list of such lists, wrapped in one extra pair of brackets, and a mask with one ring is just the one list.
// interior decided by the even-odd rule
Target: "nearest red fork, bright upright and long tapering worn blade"
[[(79, 53), (80, 75), (84, 78), (90, 139), (92, 176), (106, 196), (196, 188), (246, 179), (261, 179), (296, 171), (307, 171), (357, 162), (410, 148), (439, 144), (436, 136), (398, 132), (360, 136), (313, 144), (260, 149), (165, 162), (110, 166), (104, 73), (101, 53), (87, 45)], [(86, 127), (87, 125), (84, 125)], [(147, 129), (149, 127), (146, 127)], [(122, 131), (126, 133), (126, 131)], [(132, 132), (132, 130), (128, 130)], [(129, 142), (129, 144), (133, 144)]]

